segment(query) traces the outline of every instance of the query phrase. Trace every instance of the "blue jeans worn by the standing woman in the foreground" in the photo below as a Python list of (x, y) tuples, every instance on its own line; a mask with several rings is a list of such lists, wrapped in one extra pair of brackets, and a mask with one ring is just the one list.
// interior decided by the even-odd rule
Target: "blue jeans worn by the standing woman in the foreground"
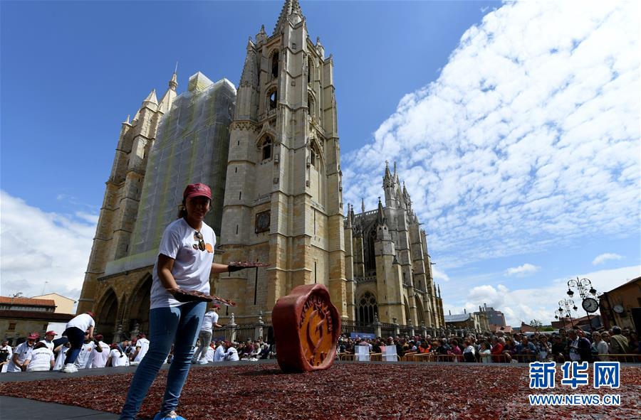
[(167, 373), (167, 386), (160, 413), (165, 415), (176, 409), (182, 386), (192, 365), (194, 345), (206, 308), (207, 303), (189, 302), (174, 308), (155, 308), (149, 311), (149, 350), (131, 381), (120, 420), (135, 419), (142, 400), (172, 349), (172, 343), (174, 358)]

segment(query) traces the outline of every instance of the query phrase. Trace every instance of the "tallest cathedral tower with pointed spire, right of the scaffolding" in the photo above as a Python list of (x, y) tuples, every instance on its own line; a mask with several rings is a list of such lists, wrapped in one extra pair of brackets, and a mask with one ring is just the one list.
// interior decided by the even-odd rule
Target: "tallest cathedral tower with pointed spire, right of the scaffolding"
[(271, 36), (263, 27), (249, 39), (230, 131), (219, 259), (271, 266), (221, 274), (215, 293), (251, 321), (259, 311), (269, 318), (294, 287), (320, 283), (353, 318), (333, 59), (308, 36), (298, 0), (285, 1)]

